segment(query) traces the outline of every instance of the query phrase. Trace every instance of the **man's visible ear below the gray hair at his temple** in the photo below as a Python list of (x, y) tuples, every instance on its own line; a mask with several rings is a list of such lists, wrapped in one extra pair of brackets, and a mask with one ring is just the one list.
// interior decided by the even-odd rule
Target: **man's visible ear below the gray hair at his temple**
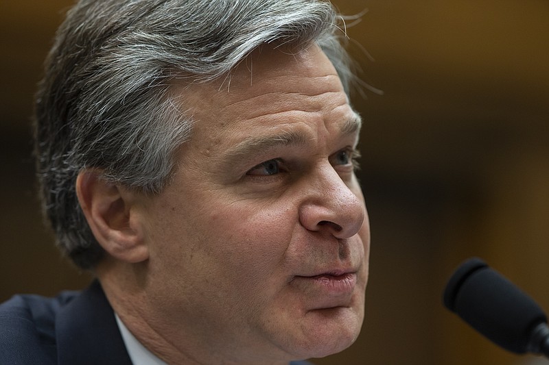
[(93, 236), (105, 251), (128, 263), (148, 259), (137, 192), (106, 181), (101, 171), (84, 170), (76, 179), (76, 194)]

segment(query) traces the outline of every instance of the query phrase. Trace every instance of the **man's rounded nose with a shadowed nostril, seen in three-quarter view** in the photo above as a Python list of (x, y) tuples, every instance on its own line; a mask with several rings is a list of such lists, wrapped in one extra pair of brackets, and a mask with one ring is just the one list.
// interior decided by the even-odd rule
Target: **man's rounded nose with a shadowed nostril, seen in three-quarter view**
[[(354, 179), (354, 178), (353, 178)], [(355, 184), (353, 190), (347, 184)], [(345, 183), (332, 166), (326, 166), (307, 181), (307, 198), (299, 220), (309, 231), (323, 231), (339, 239), (358, 233), (366, 215), (358, 182)]]

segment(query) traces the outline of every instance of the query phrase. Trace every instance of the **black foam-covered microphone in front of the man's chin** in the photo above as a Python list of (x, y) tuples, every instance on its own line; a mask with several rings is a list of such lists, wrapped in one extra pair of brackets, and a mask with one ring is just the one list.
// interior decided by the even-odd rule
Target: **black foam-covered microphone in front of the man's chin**
[(544, 311), (480, 258), (473, 257), (456, 269), (446, 284), (443, 302), (500, 347), (549, 358), (549, 327)]

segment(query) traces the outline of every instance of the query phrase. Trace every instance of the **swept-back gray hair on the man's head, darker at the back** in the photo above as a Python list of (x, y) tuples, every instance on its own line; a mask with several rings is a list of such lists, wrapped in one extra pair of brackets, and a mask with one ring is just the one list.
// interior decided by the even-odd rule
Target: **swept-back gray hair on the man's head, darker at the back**
[[(172, 80), (224, 77), (266, 43), (316, 42), (349, 94), (341, 17), (320, 0), (82, 0), (67, 13), (36, 96), (36, 156), (58, 246), (80, 268), (104, 255), (75, 181), (97, 168), (115, 184), (156, 194), (191, 134)], [(183, 108), (183, 110), (180, 110)]]

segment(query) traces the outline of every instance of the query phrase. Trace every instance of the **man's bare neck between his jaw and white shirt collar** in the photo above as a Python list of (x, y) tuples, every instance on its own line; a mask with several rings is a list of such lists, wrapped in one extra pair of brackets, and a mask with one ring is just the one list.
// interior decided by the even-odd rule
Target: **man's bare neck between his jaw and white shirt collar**
[[(244, 359), (235, 356), (215, 336), (207, 336), (206, 322), (202, 333), (188, 333), (170, 319), (170, 310), (160, 307), (151, 295), (146, 279), (147, 264), (126, 264), (113, 258), (104, 260), (95, 273), (105, 295), (126, 328), (132, 335), (167, 364), (273, 364), (287, 365), (288, 361), (266, 361), (253, 357), (253, 351)], [(153, 299), (153, 300), (151, 300)], [(181, 316), (183, 310), (181, 311)], [(210, 326), (211, 327), (211, 326)], [(214, 347), (215, 346), (215, 347)]]

